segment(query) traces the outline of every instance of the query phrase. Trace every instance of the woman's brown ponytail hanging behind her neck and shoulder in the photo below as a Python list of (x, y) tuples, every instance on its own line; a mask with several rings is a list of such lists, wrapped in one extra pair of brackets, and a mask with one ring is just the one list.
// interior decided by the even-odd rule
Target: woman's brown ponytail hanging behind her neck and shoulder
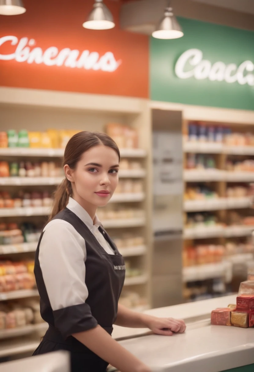
[(66, 208), (69, 196), (72, 195), (71, 182), (65, 178), (54, 193), (54, 201), (51, 215), (48, 222), (52, 220), (59, 212)]

